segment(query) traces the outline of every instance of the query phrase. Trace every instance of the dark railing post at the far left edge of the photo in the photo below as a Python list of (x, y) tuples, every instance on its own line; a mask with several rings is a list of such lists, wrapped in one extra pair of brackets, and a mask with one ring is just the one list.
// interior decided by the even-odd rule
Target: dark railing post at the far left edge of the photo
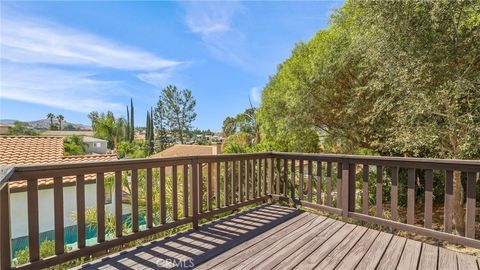
[(0, 269), (11, 268), (10, 190), (8, 183), (0, 189)]

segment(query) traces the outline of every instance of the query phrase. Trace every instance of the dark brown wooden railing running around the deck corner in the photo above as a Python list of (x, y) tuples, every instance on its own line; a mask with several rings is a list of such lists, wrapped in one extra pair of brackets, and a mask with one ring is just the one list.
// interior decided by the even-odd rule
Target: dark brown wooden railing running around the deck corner
[[(398, 211), (400, 170), (406, 172), (408, 178), (406, 223), (402, 222)], [(423, 227), (415, 225), (416, 170), (421, 170), (425, 179)], [(170, 172), (169, 176), (166, 171)], [(374, 205), (370, 205), (368, 196), (371, 171), (376, 173)], [(445, 173), (443, 231), (432, 229), (434, 171)], [(467, 179), (465, 236), (452, 234), (454, 171), (465, 173)], [(140, 172), (145, 176), (142, 180), (139, 179)], [(8, 184), (17, 181), (27, 181), (30, 262), (16, 268), (36, 269), (90, 256), (181, 225), (191, 223), (193, 228), (197, 228), (202, 218), (269, 199), (287, 200), (338, 214), (345, 221), (361, 220), (480, 248), (480, 240), (475, 238), (476, 181), (479, 172), (480, 161), (271, 152), (8, 168), (0, 174), (0, 267), (13, 268)], [(128, 183), (122, 179), (124, 174), (129, 175)], [(92, 245), (86, 244), (85, 233), (86, 175), (96, 176), (97, 241)], [(114, 178), (113, 236), (107, 235), (105, 229), (105, 175), (113, 175)], [(78, 248), (70, 251), (64, 249), (63, 177), (67, 176), (76, 178)], [(54, 190), (52, 207), (56, 255), (48, 258), (40, 258), (39, 243), (38, 179), (44, 178), (53, 178)], [(166, 181), (167, 178), (169, 181)], [(140, 181), (146, 194), (139, 194)], [(391, 199), (387, 203), (382, 197), (385, 181), (391, 182)], [(129, 188), (131, 205), (129, 233), (125, 233), (122, 227), (122, 193), (126, 186)], [(154, 187), (159, 189), (158, 193), (154, 192)], [(171, 195), (169, 201), (167, 188)], [(154, 193), (159, 198), (154, 198)], [(139, 196), (145, 200), (140, 202)], [(159, 200), (157, 210), (154, 209), (156, 199)], [(385, 205), (389, 206), (388, 209), (384, 209)], [(370, 215), (372, 209), (375, 212)], [(154, 213), (154, 210), (158, 213)], [(389, 211), (388, 216), (384, 216), (384, 210)], [(167, 212), (171, 214), (169, 218)], [(139, 225), (141, 216), (146, 219), (144, 228)]]

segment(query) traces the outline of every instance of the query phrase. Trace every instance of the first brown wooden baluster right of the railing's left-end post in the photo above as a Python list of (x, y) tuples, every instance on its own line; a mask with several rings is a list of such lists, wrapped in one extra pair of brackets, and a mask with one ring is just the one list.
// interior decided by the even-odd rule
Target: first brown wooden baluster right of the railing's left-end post
[(27, 181), (28, 209), (28, 251), (30, 262), (40, 259), (39, 223), (38, 223), (38, 182), (37, 179)]

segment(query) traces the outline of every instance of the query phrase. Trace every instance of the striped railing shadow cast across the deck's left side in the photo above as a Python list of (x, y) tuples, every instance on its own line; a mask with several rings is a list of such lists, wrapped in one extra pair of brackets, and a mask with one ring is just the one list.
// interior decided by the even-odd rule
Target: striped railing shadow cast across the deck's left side
[(274, 204), (86, 263), (81, 269), (189, 269), (303, 213)]

